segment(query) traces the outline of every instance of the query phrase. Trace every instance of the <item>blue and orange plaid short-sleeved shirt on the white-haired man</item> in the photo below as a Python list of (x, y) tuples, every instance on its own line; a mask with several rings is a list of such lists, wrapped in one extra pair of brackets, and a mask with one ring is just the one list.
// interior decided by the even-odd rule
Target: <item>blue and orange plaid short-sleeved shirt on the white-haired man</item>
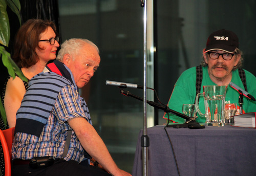
[[(91, 123), (86, 102), (73, 85), (66, 85), (59, 92), (39, 138), (26, 133), (15, 134), (12, 146), (13, 159), (29, 160), (43, 156), (61, 158), (68, 134), (67, 130), (72, 130), (67, 121), (74, 117), (84, 117)], [(83, 155), (84, 150), (72, 130), (68, 154), (64, 159), (79, 162)]]

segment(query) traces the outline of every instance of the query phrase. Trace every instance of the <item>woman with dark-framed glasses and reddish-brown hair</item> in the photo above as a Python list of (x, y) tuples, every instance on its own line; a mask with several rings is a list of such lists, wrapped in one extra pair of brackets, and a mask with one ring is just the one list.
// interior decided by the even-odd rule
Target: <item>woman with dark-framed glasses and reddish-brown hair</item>
[[(12, 58), (28, 80), (42, 72), (45, 65), (56, 58), (58, 40), (56, 26), (51, 21), (29, 19), (20, 27), (15, 37)], [(28, 83), (19, 77), (8, 78), (2, 97), (7, 115), (7, 128), (15, 126), (16, 111), (27, 88)]]

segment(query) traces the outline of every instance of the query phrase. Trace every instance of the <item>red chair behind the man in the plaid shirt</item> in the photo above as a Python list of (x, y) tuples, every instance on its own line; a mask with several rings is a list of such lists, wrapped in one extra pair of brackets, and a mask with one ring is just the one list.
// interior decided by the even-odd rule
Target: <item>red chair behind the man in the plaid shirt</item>
[(0, 129), (0, 140), (4, 151), (6, 176), (11, 176), (12, 142), (14, 138), (14, 129), (15, 127), (5, 130)]

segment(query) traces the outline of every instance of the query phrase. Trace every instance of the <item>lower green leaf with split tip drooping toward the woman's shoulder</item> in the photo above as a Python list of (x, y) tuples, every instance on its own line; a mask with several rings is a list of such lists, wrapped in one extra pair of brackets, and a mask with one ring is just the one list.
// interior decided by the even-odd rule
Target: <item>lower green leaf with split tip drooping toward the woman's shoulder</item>
[(16, 63), (12, 60), (10, 53), (8, 53), (3, 46), (0, 46), (0, 54), (2, 54), (2, 61), (5, 67), (8, 69), (9, 75), (15, 78), (16, 73), (20, 79), (28, 82), (28, 79), (24, 76)]

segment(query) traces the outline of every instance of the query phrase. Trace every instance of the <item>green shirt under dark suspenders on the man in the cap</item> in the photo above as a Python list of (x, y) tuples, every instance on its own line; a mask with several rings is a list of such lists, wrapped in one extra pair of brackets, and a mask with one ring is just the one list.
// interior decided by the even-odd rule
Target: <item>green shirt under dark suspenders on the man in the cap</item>
[[(208, 74), (208, 67), (203, 67), (203, 80), (201, 86), (201, 93), (203, 92), (203, 85), (217, 85), (212, 82)], [(256, 97), (256, 77), (252, 75), (250, 72), (245, 70), (246, 75), (246, 84), (247, 84), (247, 92)], [(172, 95), (170, 96), (168, 106), (170, 109), (182, 113), (182, 105), (183, 104), (194, 104), (196, 98), (196, 67), (190, 68), (184, 71), (179, 79), (177, 80)], [(244, 89), (244, 85), (239, 77), (238, 70), (232, 72), (231, 82), (237, 84), (239, 87)], [(247, 97), (243, 97), (243, 110), (245, 113), (256, 112), (256, 102), (248, 99)], [(227, 87), (226, 91), (226, 99), (225, 101), (229, 101), (230, 103), (237, 103), (239, 106), (239, 92), (234, 90), (230, 85)], [(203, 96), (199, 98), (199, 108), (201, 112), (204, 114), (204, 101)], [(238, 108), (239, 109), (239, 108)], [(201, 117), (199, 113), (197, 114), (197, 122), (205, 123), (205, 117)], [(164, 118), (168, 118), (167, 113), (164, 114)], [(169, 113), (170, 120), (175, 122), (184, 123), (183, 118), (175, 116)]]

